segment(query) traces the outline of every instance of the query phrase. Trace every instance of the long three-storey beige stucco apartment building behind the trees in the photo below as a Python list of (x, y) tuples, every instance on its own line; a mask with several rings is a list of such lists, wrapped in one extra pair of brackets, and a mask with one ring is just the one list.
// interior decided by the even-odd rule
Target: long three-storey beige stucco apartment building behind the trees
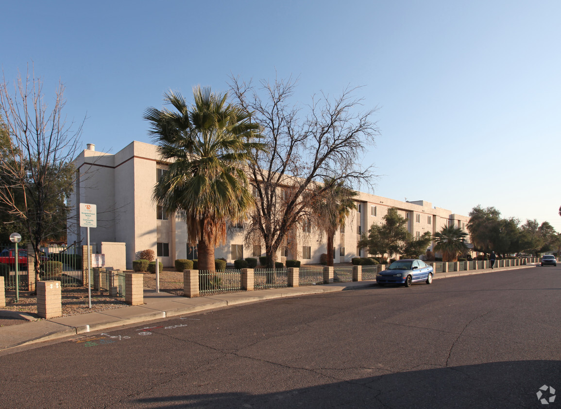
[[(78, 204), (89, 203), (95, 204), (98, 212), (98, 227), (90, 229), (90, 243), (94, 248), (101, 248), (101, 242), (126, 243), (128, 269), (132, 268), (137, 252), (146, 249), (154, 250), (164, 266), (172, 266), (177, 258), (192, 258), (192, 249), (186, 245), (185, 222), (174, 218), (166, 220), (152, 200), (158, 173), (167, 167), (159, 159), (156, 145), (134, 141), (121, 151), (109, 154), (97, 152), (94, 145), (89, 144), (75, 159), (75, 164), (78, 177), (71, 204), (76, 214), (68, 222), (68, 243), (86, 243), (86, 229), (80, 228), (76, 220)], [(467, 232), (468, 217), (433, 207), (424, 200), (399, 201), (359, 192), (356, 201), (357, 211), (347, 218), (344, 228), (335, 237), (335, 262), (366, 256), (365, 250), (357, 251), (360, 234), (367, 232), (371, 224), (383, 222), (390, 207), (397, 208), (408, 220), (408, 230), (416, 237), (427, 231), (434, 234), (450, 224)], [(302, 263), (318, 263), (321, 254), (327, 253), (325, 238), (313, 228), (309, 233), (299, 231), (296, 237), (297, 259)], [(216, 249), (215, 257), (226, 258), (231, 264), (240, 256), (264, 255), (262, 249), (259, 243), (245, 243), (242, 228), (231, 228), (226, 245)], [(277, 259), (284, 262), (286, 255), (284, 249), (280, 249)]]

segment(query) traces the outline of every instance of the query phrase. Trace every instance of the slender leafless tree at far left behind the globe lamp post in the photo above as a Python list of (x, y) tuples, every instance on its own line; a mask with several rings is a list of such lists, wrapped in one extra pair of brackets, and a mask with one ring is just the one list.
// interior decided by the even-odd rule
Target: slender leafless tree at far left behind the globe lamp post
[[(17, 77), (13, 92), (3, 76), (0, 115), (9, 145), (0, 155), (0, 206), (19, 218), (35, 253), (35, 280), (40, 279), (40, 246), (66, 226), (67, 198), (75, 180), (73, 158), (82, 124), (72, 130), (63, 116), (64, 86), (59, 83), (49, 108), (43, 82), (34, 73)], [(63, 223), (61, 223), (63, 220)]]

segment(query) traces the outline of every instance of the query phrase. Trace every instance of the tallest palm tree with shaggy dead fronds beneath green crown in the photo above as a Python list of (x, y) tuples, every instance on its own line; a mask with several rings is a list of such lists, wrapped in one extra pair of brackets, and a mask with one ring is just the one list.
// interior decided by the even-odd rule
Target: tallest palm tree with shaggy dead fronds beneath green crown
[(187, 223), (188, 243), (197, 245), (200, 270), (214, 270), (214, 248), (226, 242), (227, 223), (246, 219), (254, 199), (244, 167), (259, 143), (250, 114), (227, 103), (227, 94), (196, 87), (194, 105), (180, 93), (164, 94), (173, 110), (150, 107), (144, 119), (158, 153), (169, 161), (153, 199), (169, 216)]

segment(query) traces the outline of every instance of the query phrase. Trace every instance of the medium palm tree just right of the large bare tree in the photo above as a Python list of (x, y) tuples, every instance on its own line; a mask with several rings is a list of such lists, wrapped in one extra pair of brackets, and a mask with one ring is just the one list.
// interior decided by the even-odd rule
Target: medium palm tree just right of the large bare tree
[(325, 178), (323, 186), (312, 202), (313, 213), (318, 227), (327, 235), (327, 265), (333, 266), (333, 237), (345, 223), (345, 219), (356, 209), (352, 198), (358, 193), (344, 185), (344, 181)]

